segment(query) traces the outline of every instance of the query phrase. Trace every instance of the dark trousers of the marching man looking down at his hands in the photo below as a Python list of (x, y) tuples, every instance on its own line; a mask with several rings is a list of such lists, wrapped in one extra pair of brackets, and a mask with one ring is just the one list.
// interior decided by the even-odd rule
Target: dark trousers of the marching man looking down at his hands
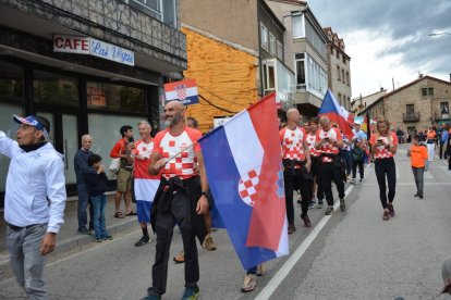
[(321, 182), (322, 190), (326, 193), (328, 205), (333, 205), (332, 179), (336, 183), (340, 199), (344, 199), (344, 180), (341, 167), (334, 165), (333, 162), (321, 163), (319, 168), (319, 180)]

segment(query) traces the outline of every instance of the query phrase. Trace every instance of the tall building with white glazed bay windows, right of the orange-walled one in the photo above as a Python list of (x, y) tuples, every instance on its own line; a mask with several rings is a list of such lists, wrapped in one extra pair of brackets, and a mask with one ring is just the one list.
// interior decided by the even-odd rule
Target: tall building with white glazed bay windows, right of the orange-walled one
[(295, 76), (292, 98), (306, 121), (317, 115), (328, 88), (328, 37), (307, 2), (266, 2), (287, 27), (285, 64)]

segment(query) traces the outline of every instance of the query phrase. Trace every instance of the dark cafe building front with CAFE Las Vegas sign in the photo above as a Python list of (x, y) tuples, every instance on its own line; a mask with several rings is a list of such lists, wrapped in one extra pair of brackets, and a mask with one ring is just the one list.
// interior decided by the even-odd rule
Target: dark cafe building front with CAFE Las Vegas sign
[(11, 114), (49, 118), (70, 195), (82, 135), (108, 165), (122, 125), (158, 129), (162, 84), (187, 65), (178, 11), (179, 0), (0, 0), (0, 128)]

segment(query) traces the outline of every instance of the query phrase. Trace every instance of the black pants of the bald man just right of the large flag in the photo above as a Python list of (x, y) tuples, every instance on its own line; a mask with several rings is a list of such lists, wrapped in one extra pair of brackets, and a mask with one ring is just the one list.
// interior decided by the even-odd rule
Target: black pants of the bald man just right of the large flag
[[(294, 173), (293, 173), (294, 171)], [(287, 218), (289, 225), (294, 224), (294, 207), (293, 207), (293, 191), (301, 189), (301, 208), (302, 214), (306, 215), (308, 212), (308, 203), (310, 201), (309, 185), (307, 180), (304, 180), (301, 168), (285, 167), (283, 171), (283, 179), (285, 185), (285, 205), (287, 205)]]

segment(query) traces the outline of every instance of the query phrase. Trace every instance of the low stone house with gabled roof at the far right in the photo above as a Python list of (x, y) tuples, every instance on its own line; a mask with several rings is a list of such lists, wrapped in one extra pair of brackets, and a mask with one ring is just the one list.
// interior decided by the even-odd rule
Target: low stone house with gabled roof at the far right
[(451, 123), (451, 83), (423, 76), (381, 96), (359, 115), (387, 117), (393, 129), (425, 130), (431, 125)]

